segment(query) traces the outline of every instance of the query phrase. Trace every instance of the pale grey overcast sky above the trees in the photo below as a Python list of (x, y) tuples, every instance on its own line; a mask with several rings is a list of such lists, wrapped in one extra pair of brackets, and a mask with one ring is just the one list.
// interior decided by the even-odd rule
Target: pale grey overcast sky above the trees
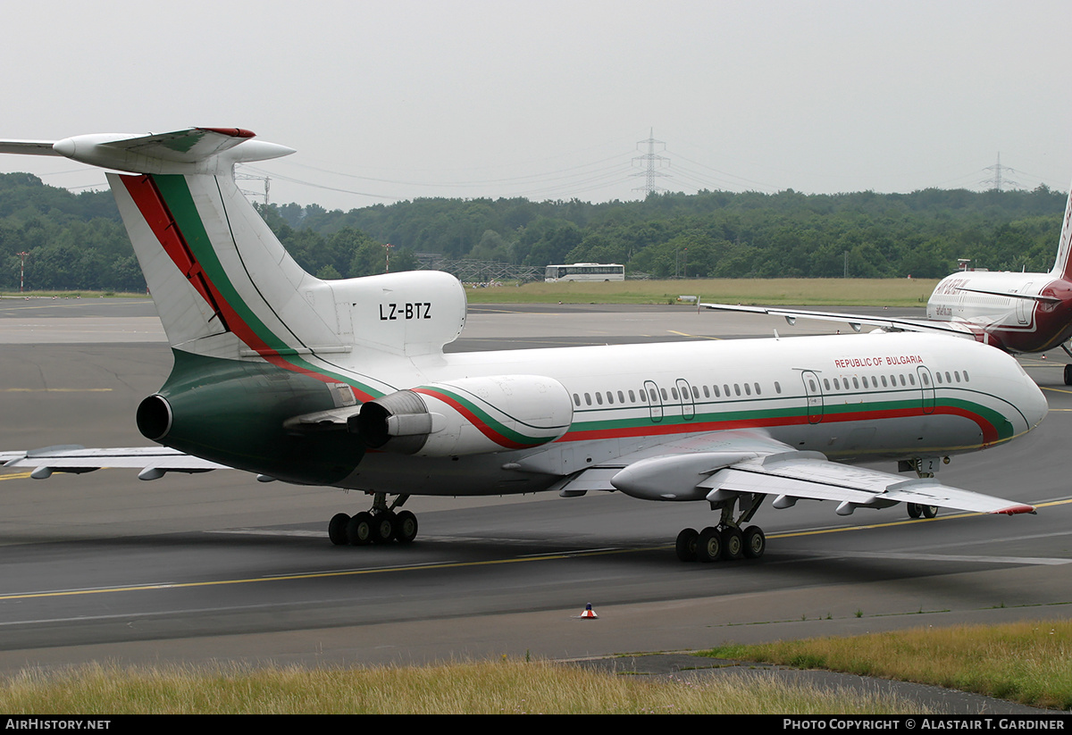
[(0, 137), (248, 128), (298, 150), (257, 167), (273, 201), (342, 209), (637, 198), (650, 129), (672, 191), (982, 189), (998, 152), (1064, 190), (1070, 21), (1067, 0), (9, 3)]

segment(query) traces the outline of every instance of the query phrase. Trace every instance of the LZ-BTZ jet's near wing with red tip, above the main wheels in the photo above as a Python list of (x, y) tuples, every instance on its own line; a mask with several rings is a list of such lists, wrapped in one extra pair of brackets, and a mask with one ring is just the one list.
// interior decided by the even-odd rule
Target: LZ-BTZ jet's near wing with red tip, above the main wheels
[(1032, 506), (942, 484), (831, 462), (796, 451), (760, 432), (714, 432), (649, 447), (566, 478), (560, 494), (619, 490), (645, 500), (729, 502), (740, 495), (774, 496), (775, 508), (798, 500), (833, 500), (839, 515), (897, 502), (978, 513), (1033, 513)]

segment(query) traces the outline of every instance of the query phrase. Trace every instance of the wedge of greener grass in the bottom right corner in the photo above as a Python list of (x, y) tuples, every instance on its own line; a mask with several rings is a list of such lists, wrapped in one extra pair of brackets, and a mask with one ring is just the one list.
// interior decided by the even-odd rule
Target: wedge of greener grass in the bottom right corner
[(1072, 621), (917, 628), (854, 638), (723, 646), (717, 658), (827, 669), (1072, 708)]

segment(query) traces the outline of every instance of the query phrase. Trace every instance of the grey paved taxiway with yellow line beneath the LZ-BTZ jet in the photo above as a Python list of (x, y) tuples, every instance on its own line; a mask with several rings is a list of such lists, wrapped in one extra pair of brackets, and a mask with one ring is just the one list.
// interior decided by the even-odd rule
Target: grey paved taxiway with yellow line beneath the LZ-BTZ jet
[[(894, 313), (894, 310), (890, 310)], [(451, 349), (783, 338), (837, 325), (683, 306), (471, 308)], [(843, 331), (847, 329), (843, 328)], [(653, 348), (655, 348), (653, 346)], [(758, 561), (681, 564), (703, 504), (621, 494), (422, 498), (410, 546), (337, 548), (326, 524), (363, 495), (241, 472), (28, 479), (0, 472), (0, 671), (90, 660), (412, 663), (600, 657), (728, 642), (1069, 616), (1072, 389), (1059, 354), (1022, 358), (1051, 414), (943, 481), (1038, 515), (830, 504), (765, 508)], [(0, 448), (142, 446), (137, 403), (170, 354), (147, 300), (0, 302)], [(893, 469), (885, 467), (885, 469)], [(591, 602), (598, 620), (579, 615)]]

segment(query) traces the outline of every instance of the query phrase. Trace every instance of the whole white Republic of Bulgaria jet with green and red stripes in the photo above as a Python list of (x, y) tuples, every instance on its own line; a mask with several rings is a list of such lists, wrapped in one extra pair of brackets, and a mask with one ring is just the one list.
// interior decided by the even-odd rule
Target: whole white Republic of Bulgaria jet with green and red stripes
[[(683, 560), (762, 556), (771, 499), (904, 502), (1016, 514), (958, 490), (952, 454), (1010, 441), (1046, 402), (1004, 352), (915, 333), (445, 354), (466, 300), (447, 273), (323, 281), (291, 258), (234, 179), (238, 162), (294, 151), (241, 129), (4, 140), (107, 179), (174, 354), (137, 409), (157, 445), (0, 453), (32, 477), (99, 467), (235, 468), (360, 490), (371, 507), (328, 524), (336, 544), (408, 543), (411, 495), (620, 491), (715, 512), (678, 537)], [(888, 460), (907, 476), (845, 464)]]

